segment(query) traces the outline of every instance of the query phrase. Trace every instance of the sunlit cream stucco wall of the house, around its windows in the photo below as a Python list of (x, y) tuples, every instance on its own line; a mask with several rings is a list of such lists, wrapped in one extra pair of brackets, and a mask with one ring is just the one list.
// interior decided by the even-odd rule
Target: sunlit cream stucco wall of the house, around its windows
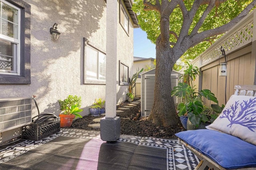
[[(95, 99), (105, 99), (105, 85), (83, 84), (83, 38), (106, 52), (105, 0), (24, 1), (31, 5), (31, 84), (0, 85), (0, 97), (36, 95), (41, 113), (59, 115), (58, 100), (78, 95), (82, 97), (84, 109), (81, 115), (88, 115)], [(61, 33), (58, 40), (52, 40), (50, 35), (54, 23), (58, 24)], [(119, 24), (119, 16), (117, 53), (117, 60), (120, 59), (132, 71), (133, 28), (130, 23), (128, 36)], [(120, 87), (117, 82), (117, 103), (126, 99), (127, 88)], [(35, 106), (32, 113), (37, 115)], [(17, 135), (19, 130), (3, 132), (0, 142), (5, 140), (5, 136), (13, 138)]]

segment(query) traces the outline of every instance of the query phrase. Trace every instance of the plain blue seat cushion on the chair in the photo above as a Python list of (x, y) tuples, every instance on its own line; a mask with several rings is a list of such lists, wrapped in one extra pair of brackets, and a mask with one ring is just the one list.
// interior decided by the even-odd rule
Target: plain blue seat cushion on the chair
[(256, 145), (216, 130), (176, 133), (181, 140), (226, 169), (256, 167)]

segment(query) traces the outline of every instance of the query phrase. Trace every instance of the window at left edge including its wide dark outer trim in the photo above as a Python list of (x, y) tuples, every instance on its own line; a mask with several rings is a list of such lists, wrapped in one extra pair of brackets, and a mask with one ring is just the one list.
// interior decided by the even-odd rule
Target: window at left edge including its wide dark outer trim
[(30, 35), (25, 38), (25, 30), (30, 30), (30, 5), (22, 0), (0, 0), (1, 84), (30, 83)]

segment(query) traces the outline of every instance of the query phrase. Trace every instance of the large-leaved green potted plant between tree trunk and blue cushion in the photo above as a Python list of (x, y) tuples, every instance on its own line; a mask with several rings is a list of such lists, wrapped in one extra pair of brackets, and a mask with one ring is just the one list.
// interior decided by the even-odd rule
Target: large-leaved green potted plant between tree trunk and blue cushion
[[(174, 87), (171, 94), (185, 99), (178, 104), (177, 110), (178, 116), (188, 116), (188, 130), (192, 130), (191, 128), (204, 128), (204, 123), (209, 121), (208, 116), (202, 114), (204, 111), (202, 97), (205, 97), (218, 105), (217, 98), (210, 90), (203, 89), (197, 92), (196, 89), (192, 88), (187, 83), (178, 83), (178, 86)], [(200, 127), (201, 123), (202, 126)]]

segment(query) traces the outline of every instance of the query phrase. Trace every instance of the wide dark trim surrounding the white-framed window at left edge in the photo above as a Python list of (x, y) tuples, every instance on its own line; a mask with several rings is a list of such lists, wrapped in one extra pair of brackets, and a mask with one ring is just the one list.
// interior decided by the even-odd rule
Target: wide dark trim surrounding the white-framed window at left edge
[(23, 0), (6, 0), (20, 8), (20, 75), (0, 74), (0, 84), (30, 84), (31, 7)]

